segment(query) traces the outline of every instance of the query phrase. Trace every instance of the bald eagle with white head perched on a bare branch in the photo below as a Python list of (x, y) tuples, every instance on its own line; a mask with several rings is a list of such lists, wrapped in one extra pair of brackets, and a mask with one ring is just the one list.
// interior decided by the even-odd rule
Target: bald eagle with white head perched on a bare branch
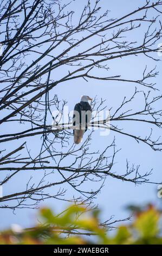
[(83, 134), (87, 131), (88, 125), (92, 117), (92, 108), (88, 103), (92, 100), (89, 96), (83, 95), (81, 101), (74, 107), (73, 113), (73, 130), (74, 143), (79, 144), (82, 141)]

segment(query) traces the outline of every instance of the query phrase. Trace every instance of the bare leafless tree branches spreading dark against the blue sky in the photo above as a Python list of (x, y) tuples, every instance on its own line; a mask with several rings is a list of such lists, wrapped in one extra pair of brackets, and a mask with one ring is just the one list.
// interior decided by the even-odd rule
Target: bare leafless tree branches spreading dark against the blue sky
[[(90, 125), (110, 129), (114, 136), (128, 136), (160, 151), (162, 141), (154, 135), (154, 128), (161, 129), (162, 124), (162, 110), (156, 108), (162, 97), (155, 86), (158, 71), (144, 66), (137, 79), (130, 79), (121, 77), (119, 70), (110, 75), (109, 66), (113, 59), (141, 55), (158, 61), (161, 7), (162, 1), (146, 1), (131, 13), (114, 18), (109, 10), (101, 8), (99, 0), (87, 1), (80, 16), (73, 11), (73, 1), (1, 1), (0, 125), (5, 132), (1, 129), (0, 185), (11, 186), (21, 176), (24, 189), (15, 187), (14, 193), (3, 195), (0, 208), (36, 208), (47, 198), (91, 202), (109, 176), (134, 184), (152, 182), (152, 170), (140, 173), (139, 166), (129, 166), (128, 162), (124, 173), (118, 174), (113, 168), (119, 151), (115, 138), (102, 152), (92, 150), (94, 130), (76, 146), (72, 120), (69, 118), (67, 125), (58, 124), (52, 112), (63, 113), (67, 102), (59, 99), (55, 88), (67, 81), (76, 83), (76, 87), (82, 80), (133, 84), (132, 96), (116, 102), (115, 109), (105, 100), (94, 99), (92, 108), (96, 113), (109, 109), (110, 127), (107, 120), (99, 124), (92, 120)], [(140, 33), (143, 25), (147, 29), (137, 40), (134, 31)], [(137, 103), (138, 111), (133, 107)], [(122, 128), (127, 121), (137, 126), (146, 123), (151, 132), (142, 137), (139, 130), (125, 131)], [(35, 137), (40, 138), (41, 147), (35, 145), (35, 154), (31, 154), (30, 143)], [(17, 147), (12, 144), (15, 142)], [(29, 172), (28, 180), (23, 180), (24, 172)], [(68, 189), (74, 197), (69, 196)]]

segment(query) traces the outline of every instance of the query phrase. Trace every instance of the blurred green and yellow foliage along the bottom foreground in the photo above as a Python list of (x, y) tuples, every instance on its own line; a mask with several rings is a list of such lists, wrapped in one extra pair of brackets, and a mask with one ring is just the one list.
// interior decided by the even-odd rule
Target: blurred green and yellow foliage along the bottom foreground
[[(134, 208), (137, 210), (137, 208)], [(134, 211), (130, 225), (122, 225), (115, 235), (108, 234), (99, 221), (99, 210), (72, 205), (55, 215), (48, 208), (39, 211), (41, 223), (22, 229), (12, 225), (0, 232), (1, 244), (162, 244), (161, 212), (153, 205)], [(90, 238), (89, 238), (90, 237)]]

